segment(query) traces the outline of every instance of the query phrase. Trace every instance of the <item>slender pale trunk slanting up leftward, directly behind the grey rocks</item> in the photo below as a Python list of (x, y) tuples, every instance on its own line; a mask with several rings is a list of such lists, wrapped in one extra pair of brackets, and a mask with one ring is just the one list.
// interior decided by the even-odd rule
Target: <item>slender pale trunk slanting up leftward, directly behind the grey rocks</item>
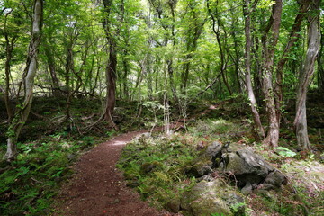
[(254, 9), (249, 6), (249, 0), (245, 0), (245, 4), (243, 6), (243, 13), (245, 16), (245, 35), (246, 35), (246, 47), (245, 47), (245, 66), (246, 66), (246, 85), (247, 85), (247, 95), (248, 100), (250, 102), (250, 107), (253, 115), (253, 121), (255, 123), (255, 129), (257, 133), (257, 138), (262, 140), (265, 138), (265, 130), (260, 121), (260, 115), (257, 111), (257, 102), (256, 97), (252, 88), (251, 81), (251, 12)]

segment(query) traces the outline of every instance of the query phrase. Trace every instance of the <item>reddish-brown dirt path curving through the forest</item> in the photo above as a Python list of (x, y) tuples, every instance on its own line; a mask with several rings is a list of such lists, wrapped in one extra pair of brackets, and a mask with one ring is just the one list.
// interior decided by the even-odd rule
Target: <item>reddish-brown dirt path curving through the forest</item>
[(140, 201), (139, 194), (126, 187), (115, 165), (121, 149), (134, 137), (148, 132), (141, 130), (122, 134), (102, 143), (85, 155), (73, 167), (76, 174), (58, 195), (55, 215), (75, 216), (169, 216)]

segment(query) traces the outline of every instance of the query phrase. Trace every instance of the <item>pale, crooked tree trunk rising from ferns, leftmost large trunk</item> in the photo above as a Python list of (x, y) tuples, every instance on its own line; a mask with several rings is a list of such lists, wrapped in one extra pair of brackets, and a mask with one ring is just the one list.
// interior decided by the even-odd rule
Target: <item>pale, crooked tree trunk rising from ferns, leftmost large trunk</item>
[(15, 113), (14, 121), (8, 129), (7, 151), (4, 158), (13, 161), (17, 154), (17, 139), (31, 111), (32, 90), (37, 69), (37, 52), (40, 45), (40, 31), (43, 19), (43, 1), (35, 0), (33, 4), (31, 42), (27, 54), (26, 69), (23, 73), (24, 100)]

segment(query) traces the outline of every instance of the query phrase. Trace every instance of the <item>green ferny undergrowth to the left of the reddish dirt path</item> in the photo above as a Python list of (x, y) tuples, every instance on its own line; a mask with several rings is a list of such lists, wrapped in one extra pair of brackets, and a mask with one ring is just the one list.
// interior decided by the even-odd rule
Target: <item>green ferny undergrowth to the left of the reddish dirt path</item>
[[(17, 159), (11, 165), (0, 164), (0, 215), (49, 215), (51, 198), (72, 174), (69, 166), (94, 140), (67, 139), (67, 133), (59, 133), (18, 143)], [(3, 157), (4, 148), (0, 153)]]

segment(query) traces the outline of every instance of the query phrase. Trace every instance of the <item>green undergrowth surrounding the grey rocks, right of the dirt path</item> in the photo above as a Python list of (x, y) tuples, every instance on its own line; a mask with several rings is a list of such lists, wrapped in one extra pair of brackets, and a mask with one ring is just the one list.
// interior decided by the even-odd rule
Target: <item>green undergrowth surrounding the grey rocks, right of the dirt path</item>
[(252, 193), (246, 196), (246, 215), (322, 215), (324, 212), (324, 166), (293, 152), (293, 148), (269, 149), (253, 139), (248, 121), (222, 118), (199, 120), (187, 132), (170, 137), (134, 140), (123, 149), (118, 167), (127, 184), (143, 199), (168, 211), (172, 202), (180, 202), (185, 190), (199, 179), (187, 172), (202, 152), (214, 140), (230, 141), (238, 148), (249, 148), (284, 172), (289, 184), (281, 191)]

